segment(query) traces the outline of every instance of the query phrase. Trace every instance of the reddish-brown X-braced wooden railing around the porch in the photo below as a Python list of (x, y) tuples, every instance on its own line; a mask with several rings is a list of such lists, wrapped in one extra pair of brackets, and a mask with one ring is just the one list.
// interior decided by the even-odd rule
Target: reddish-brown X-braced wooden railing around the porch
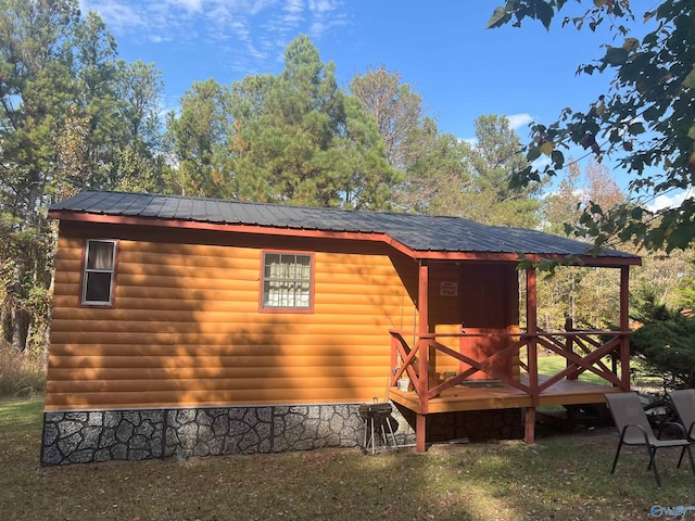
[[(563, 332), (536, 331), (535, 333), (520, 332), (484, 332), (484, 333), (427, 333), (418, 334), (413, 331), (391, 330), (391, 367), (393, 369), (391, 386), (407, 374), (415, 392), (427, 411), (429, 399), (435, 398), (446, 389), (453, 387), (472, 374), (482, 371), (486, 378), (500, 380), (508, 385), (528, 393), (534, 405), (539, 395), (554, 383), (567, 379), (577, 380), (585, 371), (591, 371), (607, 383), (630, 389), (629, 371), (629, 334), (630, 331), (587, 331), (570, 330)], [(479, 338), (481, 342), (491, 339), (506, 344), (492, 354), (475, 359), (464, 354), (462, 346), (467, 339)], [(406, 339), (413, 339), (409, 345)], [(458, 339), (458, 351), (442, 343), (444, 339)], [(442, 353), (458, 361), (459, 370), (454, 377), (444, 381), (434, 381), (430, 371), (430, 351)], [(545, 374), (539, 380), (539, 351), (546, 350), (565, 358), (565, 368), (555, 374)], [(526, 353), (525, 353), (526, 352)], [(523, 356), (526, 354), (526, 357)], [(501, 359), (519, 360), (520, 370), (526, 371), (527, 378), (501, 370)], [(509, 364), (504, 364), (510, 366)]]

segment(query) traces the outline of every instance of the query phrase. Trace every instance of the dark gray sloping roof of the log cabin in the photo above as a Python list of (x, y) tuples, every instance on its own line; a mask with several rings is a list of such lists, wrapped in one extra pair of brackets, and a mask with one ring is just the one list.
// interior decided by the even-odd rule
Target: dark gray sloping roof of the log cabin
[[(486, 226), (458, 217), (281, 206), (175, 195), (86, 191), (52, 205), (49, 211), (295, 230), (386, 233), (420, 252), (587, 255), (591, 247), (581, 241), (541, 231)], [(598, 257), (639, 259), (635, 255), (608, 249), (602, 250)]]

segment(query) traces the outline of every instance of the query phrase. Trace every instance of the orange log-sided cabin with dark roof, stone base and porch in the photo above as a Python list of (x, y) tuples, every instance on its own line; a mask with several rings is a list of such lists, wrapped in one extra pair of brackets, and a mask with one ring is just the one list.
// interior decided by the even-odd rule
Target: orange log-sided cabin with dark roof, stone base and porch
[[(43, 465), (354, 447), (374, 402), (419, 452), (532, 443), (538, 407), (630, 389), (635, 255), (455, 217), (142, 193), (85, 191), (49, 216)], [(619, 330), (540, 329), (544, 258), (619, 274)], [(539, 373), (540, 352), (566, 367)]]

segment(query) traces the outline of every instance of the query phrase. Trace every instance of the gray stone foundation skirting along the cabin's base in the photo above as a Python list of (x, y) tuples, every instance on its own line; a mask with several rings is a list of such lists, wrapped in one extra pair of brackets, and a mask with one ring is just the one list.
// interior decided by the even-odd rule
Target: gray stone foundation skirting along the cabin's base
[[(364, 443), (361, 404), (45, 412), (42, 465), (176, 456), (283, 453)], [(415, 414), (393, 406), (399, 445), (415, 443)], [(519, 409), (429, 415), (428, 443), (522, 435)]]

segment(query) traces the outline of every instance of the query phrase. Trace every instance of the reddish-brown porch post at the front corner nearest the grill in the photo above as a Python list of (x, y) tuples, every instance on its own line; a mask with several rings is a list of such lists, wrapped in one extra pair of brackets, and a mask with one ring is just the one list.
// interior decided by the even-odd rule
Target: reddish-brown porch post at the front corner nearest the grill
[(429, 342), (424, 342), (422, 336), (430, 332), (430, 317), (429, 317), (429, 266), (427, 260), (420, 260), (419, 269), (419, 283), (418, 283), (418, 332), (419, 332), (419, 345), (418, 353), (418, 370), (420, 372), (418, 377), (418, 395), (420, 398), (420, 412), (417, 414), (416, 429), (415, 429), (415, 448), (418, 453), (425, 452), (425, 441), (427, 439), (427, 412), (428, 412), (428, 396), (429, 391), (429, 369), (428, 359), (429, 356)]

